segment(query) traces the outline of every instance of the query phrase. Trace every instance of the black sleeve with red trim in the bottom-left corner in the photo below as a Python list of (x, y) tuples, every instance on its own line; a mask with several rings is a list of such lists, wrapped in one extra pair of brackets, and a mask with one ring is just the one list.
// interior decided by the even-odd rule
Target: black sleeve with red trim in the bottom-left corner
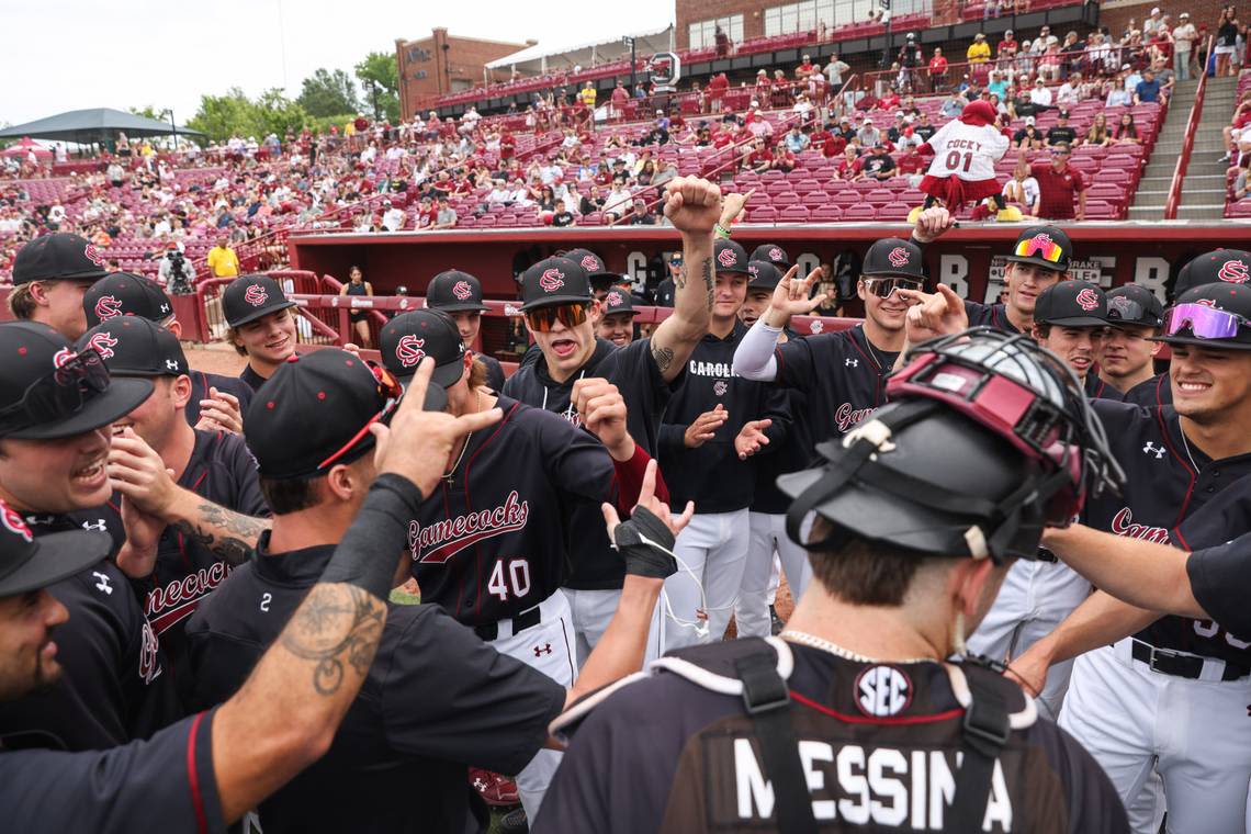
[(24, 834), (225, 831), (213, 770), (215, 713), (110, 750), (0, 753), (4, 828)]

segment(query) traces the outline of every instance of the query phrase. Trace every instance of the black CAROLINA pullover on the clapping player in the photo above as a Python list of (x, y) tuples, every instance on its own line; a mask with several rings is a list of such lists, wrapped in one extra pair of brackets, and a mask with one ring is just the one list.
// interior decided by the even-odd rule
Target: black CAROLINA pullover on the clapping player
[[(786, 391), (733, 371), (734, 350), (747, 334), (736, 321), (724, 338), (704, 334), (687, 360), (686, 379), (661, 424), (661, 469), (678, 511), (696, 501), (698, 513), (732, 513), (751, 506), (756, 494), (757, 458), (768, 456), (786, 441), (791, 415)], [(717, 405), (729, 415), (711, 440), (694, 449), (684, 443), (687, 428)], [(739, 460), (734, 438), (751, 420), (769, 419), (769, 439), (757, 455)], [(774, 445), (776, 444), (776, 445)]]

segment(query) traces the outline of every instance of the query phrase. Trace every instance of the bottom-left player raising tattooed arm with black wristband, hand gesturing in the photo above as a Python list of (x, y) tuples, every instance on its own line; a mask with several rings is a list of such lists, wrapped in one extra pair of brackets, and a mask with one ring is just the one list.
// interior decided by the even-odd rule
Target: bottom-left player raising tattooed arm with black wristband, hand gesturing
[[(111, 395), (86, 398), (75, 419), (94, 423), (115, 410), (123, 389), (130, 389), (128, 396), (141, 394), (133, 381), (116, 380), (109, 386)], [(325, 754), (365, 680), (388, 619), (384, 599), (398, 560), (379, 554), (402, 550), (405, 519), (422, 490), (433, 489), (453, 439), (489, 423), (489, 415), (455, 419), (422, 411), (417, 404), (424, 381), (417, 385), (413, 405), (397, 409), (389, 429), (373, 429), (389, 439), (377, 453), (379, 476), (322, 580), (239, 693), (150, 739), (123, 746), (101, 744), (90, 751), (65, 753), (5, 745), (0, 749), (0, 808), (6, 829), (30, 834), (224, 831)], [(6, 453), (11, 443), (4, 440)], [(69, 489), (103, 489), (104, 483), (100, 478), (95, 485), (75, 483)], [(4, 700), (24, 698), (55, 680), (60, 665), (69, 668), (59, 645), (65, 626), (55, 633), (56, 643), (49, 639), (51, 629), (65, 623), (66, 611), (46, 589), (91, 570), (110, 548), (101, 533), (36, 536), (4, 506), (0, 519)], [(352, 803), (350, 796), (335, 798), (343, 805)]]

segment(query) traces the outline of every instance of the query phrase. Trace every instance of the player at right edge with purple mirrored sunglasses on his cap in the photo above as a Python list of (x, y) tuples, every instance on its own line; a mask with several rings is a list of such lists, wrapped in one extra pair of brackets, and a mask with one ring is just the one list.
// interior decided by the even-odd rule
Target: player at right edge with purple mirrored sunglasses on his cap
[[(1173, 405), (1097, 401), (1113, 454), (1130, 473), (1120, 498), (1092, 501), (1085, 523), (1161, 544), (1225, 489), (1251, 473), (1251, 289), (1196, 286), (1165, 316)], [(1245, 531), (1211, 531), (1205, 541)], [(1132, 636), (1130, 636), (1132, 635)], [(1166, 616), (1096, 591), (1051, 635), (1013, 663), (1033, 683), (1073, 664), (1061, 726), (1117, 786), (1137, 830), (1158, 829), (1143, 785), (1163, 779), (1176, 830), (1241, 830), (1251, 779), (1251, 653), (1216, 623)], [(1148, 790), (1148, 794), (1152, 793)]]

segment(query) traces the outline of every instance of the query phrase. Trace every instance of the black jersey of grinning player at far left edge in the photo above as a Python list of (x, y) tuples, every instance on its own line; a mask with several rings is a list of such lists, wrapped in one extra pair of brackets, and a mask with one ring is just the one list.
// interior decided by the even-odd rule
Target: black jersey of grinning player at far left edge
[[(89, 515), (89, 514), (83, 514)], [(26, 516), (35, 535), (108, 525), (64, 515)], [(70, 619), (55, 631), (61, 679), (0, 704), (4, 746), (106, 749), (146, 738), (180, 718), (164, 654), (143, 605), (110, 560), (49, 588)]]

